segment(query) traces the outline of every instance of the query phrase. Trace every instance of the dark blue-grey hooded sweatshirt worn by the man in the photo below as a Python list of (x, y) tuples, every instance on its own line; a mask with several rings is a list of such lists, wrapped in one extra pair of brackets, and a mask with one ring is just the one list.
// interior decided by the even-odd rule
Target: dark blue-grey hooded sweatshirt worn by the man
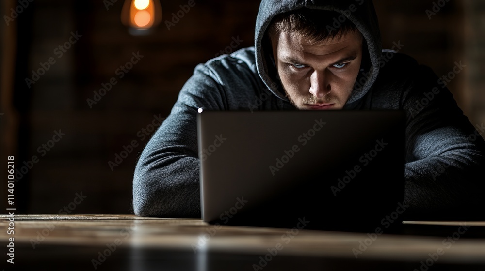
[[(200, 218), (197, 108), (296, 110), (282, 91), (263, 38), (275, 15), (302, 7), (336, 11), (342, 16), (330, 27), (348, 19), (365, 38), (370, 64), (361, 70), (344, 109), (406, 112), (405, 219), (484, 219), (483, 126), (475, 129), (429, 67), (382, 50), (370, 0), (262, 0), (255, 46), (197, 65), (147, 143), (134, 172), (135, 214)], [(400, 46), (396, 42), (392, 49)]]

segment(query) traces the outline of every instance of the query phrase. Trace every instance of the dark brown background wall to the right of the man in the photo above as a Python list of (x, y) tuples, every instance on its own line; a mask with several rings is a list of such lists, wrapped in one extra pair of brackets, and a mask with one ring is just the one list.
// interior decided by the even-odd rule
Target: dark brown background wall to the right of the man
[[(401, 40), (405, 44), (403, 53), (433, 68), (439, 77), (447, 76), (450, 81), (447, 87), (458, 105), (473, 124), (482, 127), (485, 123), (485, 2), (374, 0), (374, 3), (381, 19), (385, 47)], [(466, 67), (452, 75), (455, 62)]]

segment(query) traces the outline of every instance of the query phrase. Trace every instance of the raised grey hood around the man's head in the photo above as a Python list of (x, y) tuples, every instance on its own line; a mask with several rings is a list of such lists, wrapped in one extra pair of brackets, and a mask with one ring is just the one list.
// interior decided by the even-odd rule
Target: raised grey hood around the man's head
[[(352, 6), (354, 5), (354, 6)], [(347, 101), (347, 105), (362, 98), (371, 88), (379, 73), (380, 58), (382, 52), (381, 33), (377, 15), (372, 0), (262, 0), (259, 6), (258, 18), (256, 20), (255, 33), (255, 55), (258, 74), (266, 86), (279, 98), (288, 101), (285, 92), (278, 79), (275, 65), (270, 55), (271, 48), (264, 45), (266, 30), (275, 15), (297, 10), (300, 8), (321, 9), (335, 11), (344, 15), (353, 22), (362, 33), (368, 48), (369, 54), (363, 57), (370, 58), (370, 65), (366, 70), (359, 73), (357, 80), (365, 75), (367, 80), (359, 88), (354, 88)], [(355, 11), (351, 11), (355, 10)], [(265, 52), (267, 50), (267, 52)], [(363, 60), (362, 62), (364, 62)]]

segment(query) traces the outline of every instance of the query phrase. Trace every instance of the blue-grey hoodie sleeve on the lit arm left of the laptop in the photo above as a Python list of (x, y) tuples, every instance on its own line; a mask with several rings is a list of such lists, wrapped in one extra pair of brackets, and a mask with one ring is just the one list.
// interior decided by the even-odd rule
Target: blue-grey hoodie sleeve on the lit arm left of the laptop
[(133, 178), (139, 216), (200, 218), (197, 109), (222, 110), (223, 90), (210, 68), (198, 65), (170, 115), (148, 141)]

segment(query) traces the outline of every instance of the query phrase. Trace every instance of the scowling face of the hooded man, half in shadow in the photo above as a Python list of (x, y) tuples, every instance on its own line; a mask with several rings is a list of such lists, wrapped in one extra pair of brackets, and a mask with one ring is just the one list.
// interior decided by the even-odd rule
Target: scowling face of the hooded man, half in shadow
[(271, 37), (281, 83), (300, 110), (342, 109), (362, 60), (362, 38), (351, 32), (315, 43), (283, 31)]

